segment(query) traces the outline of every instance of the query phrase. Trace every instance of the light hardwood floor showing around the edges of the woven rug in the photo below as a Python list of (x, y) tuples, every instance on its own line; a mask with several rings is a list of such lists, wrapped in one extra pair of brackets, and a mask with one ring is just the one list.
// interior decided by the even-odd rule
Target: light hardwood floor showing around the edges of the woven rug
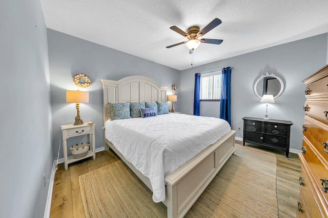
[[(236, 141), (236, 143), (242, 144), (241, 141)], [(298, 156), (290, 153), (290, 158), (286, 158), (285, 152), (282, 151), (257, 147), (249, 143), (247, 143), (246, 146), (268, 151), (276, 155), (279, 217), (296, 217), (300, 188), (298, 180), (301, 167)], [(111, 151), (102, 151), (96, 153), (95, 160), (88, 158), (69, 164), (66, 171), (64, 163), (59, 164), (55, 174), (50, 217), (85, 217), (78, 185), (78, 177), (116, 160), (117, 156)]]

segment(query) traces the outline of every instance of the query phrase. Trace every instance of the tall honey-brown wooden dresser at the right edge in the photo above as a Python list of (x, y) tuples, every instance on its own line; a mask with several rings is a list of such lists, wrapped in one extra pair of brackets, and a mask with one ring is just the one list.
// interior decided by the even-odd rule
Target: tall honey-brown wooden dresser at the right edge
[(328, 217), (328, 64), (302, 82), (306, 101), (297, 217)]

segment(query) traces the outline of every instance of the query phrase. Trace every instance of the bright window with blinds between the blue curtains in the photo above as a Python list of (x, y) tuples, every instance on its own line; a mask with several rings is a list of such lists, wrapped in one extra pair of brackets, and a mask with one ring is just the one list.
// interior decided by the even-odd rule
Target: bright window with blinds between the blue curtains
[(222, 72), (200, 76), (200, 101), (220, 101), (222, 87)]

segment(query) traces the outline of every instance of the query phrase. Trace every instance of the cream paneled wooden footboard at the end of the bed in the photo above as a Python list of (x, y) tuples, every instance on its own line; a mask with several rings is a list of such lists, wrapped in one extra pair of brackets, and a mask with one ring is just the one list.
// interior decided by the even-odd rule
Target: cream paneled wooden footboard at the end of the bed
[(166, 177), (168, 217), (183, 217), (235, 151), (230, 131)]

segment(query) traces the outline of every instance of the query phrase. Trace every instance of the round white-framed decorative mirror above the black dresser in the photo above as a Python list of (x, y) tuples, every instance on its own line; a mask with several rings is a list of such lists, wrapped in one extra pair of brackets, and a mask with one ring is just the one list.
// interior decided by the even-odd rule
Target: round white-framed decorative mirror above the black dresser
[(263, 94), (273, 94), (274, 98), (278, 98), (284, 88), (283, 81), (273, 72), (266, 72), (254, 84), (254, 92), (258, 98), (262, 98)]

